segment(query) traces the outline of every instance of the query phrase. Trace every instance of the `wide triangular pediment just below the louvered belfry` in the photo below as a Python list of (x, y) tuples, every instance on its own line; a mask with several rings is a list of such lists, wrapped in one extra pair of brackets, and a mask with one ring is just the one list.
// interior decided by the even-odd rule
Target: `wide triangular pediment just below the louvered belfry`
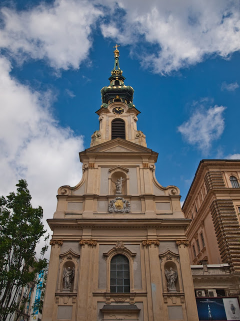
[(140, 152), (140, 153), (151, 153), (152, 150), (138, 145), (134, 142), (122, 139), (115, 138), (108, 140), (99, 145), (92, 146), (85, 149), (85, 152)]

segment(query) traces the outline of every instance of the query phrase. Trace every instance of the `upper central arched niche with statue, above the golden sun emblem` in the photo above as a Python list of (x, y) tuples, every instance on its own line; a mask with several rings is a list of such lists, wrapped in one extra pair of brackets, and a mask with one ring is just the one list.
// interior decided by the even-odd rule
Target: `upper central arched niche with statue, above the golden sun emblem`
[(111, 173), (109, 176), (109, 184), (108, 184), (108, 194), (109, 195), (117, 195), (116, 194), (116, 181), (121, 180), (121, 194), (118, 195), (127, 195), (128, 194), (128, 169), (122, 166), (116, 166), (109, 170)]

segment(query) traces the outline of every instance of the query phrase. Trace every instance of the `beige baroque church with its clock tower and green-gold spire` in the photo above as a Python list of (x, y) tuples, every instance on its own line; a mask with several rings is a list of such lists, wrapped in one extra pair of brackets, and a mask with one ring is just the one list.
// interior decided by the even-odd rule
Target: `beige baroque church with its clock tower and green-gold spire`
[(62, 186), (44, 321), (198, 320), (179, 189), (155, 178), (157, 153), (137, 130), (133, 88), (114, 50), (99, 130), (79, 153), (82, 178)]

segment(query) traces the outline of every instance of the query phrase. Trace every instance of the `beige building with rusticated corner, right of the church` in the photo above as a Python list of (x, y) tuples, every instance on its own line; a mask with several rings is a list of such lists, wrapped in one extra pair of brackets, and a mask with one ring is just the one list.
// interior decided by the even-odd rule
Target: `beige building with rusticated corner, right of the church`
[[(205, 272), (203, 265), (192, 266), (194, 288), (206, 295), (209, 288), (226, 296), (240, 294), (239, 187), (240, 161), (203, 159), (182, 206), (192, 220), (186, 231), (191, 264), (205, 266)], [(200, 270), (202, 277), (196, 273)]]

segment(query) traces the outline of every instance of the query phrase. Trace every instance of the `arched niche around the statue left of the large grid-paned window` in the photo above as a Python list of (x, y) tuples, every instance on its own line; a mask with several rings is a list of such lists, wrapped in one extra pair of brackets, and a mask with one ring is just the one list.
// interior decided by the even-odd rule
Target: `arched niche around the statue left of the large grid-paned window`
[(79, 257), (80, 255), (72, 251), (71, 249), (60, 254), (59, 268), (58, 268), (58, 280), (57, 280), (57, 292), (62, 292), (64, 288), (63, 270), (64, 268), (74, 268), (74, 278), (71, 283), (70, 292), (75, 293), (77, 291), (78, 281), (78, 268), (79, 268)]

